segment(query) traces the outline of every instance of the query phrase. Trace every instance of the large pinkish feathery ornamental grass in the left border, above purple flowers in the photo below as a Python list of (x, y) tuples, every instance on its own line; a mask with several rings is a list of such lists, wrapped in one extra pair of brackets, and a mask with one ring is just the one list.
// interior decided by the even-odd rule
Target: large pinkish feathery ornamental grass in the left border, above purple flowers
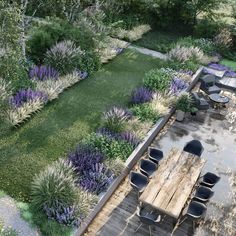
[(81, 54), (80, 48), (77, 48), (72, 41), (63, 41), (47, 51), (45, 63), (65, 75), (78, 68)]

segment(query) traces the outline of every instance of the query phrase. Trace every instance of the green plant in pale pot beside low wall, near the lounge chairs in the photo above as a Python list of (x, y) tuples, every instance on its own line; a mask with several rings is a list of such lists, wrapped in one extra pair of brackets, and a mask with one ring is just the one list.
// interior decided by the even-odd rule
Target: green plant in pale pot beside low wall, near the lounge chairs
[(189, 93), (182, 93), (176, 102), (176, 120), (183, 121), (186, 112), (191, 112), (193, 100)]

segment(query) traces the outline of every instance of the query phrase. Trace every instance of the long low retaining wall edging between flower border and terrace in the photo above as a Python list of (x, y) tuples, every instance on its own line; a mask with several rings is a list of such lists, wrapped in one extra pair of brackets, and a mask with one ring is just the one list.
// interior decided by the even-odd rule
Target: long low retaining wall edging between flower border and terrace
[[(194, 86), (198, 82), (198, 79), (202, 73), (202, 70), (203, 70), (203, 67), (200, 67), (196, 71), (196, 73), (192, 76), (192, 81), (191, 81), (190, 85), (188, 86), (188, 88), (185, 90), (186, 92), (190, 92), (194, 88)], [(137, 161), (143, 155), (143, 153), (148, 148), (148, 146), (152, 143), (153, 139), (157, 136), (157, 134), (166, 125), (166, 123), (169, 121), (169, 119), (174, 114), (174, 112), (175, 112), (175, 108), (172, 108), (167, 115), (160, 118), (157, 121), (157, 123), (153, 126), (153, 128), (147, 133), (147, 136), (145, 137), (145, 139), (131, 153), (131, 155), (129, 156), (129, 158), (125, 162), (124, 170), (122, 171), (120, 176), (117, 179), (115, 179), (115, 181), (111, 184), (111, 186), (108, 188), (105, 195), (101, 198), (101, 200), (98, 202), (98, 204), (92, 210), (92, 212), (82, 222), (80, 228), (76, 231), (76, 234), (75, 234), (76, 236), (82, 236), (85, 233), (88, 226), (91, 224), (91, 222), (97, 216), (97, 214), (100, 212), (100, 210), (103, 208), (103, 206), (107, 203), (107, 201), (110, 199), (110, 197), (115, 192), (117, 187), (124, 180), (124, 178), (128, 175), (130, 170), (134, 167), (134, 165), (137, 163)]]

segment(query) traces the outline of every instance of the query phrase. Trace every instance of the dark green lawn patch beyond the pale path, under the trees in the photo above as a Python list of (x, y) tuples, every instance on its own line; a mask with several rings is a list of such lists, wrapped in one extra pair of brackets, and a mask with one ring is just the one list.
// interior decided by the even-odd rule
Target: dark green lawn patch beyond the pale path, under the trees
[(179, 38), (184, 36), (186, 35), (174, 31), (165, 32), (154, 30), (143, 35), (143, 37), (137, 42), (134, 42), (134, 44), (140, 47), (166, 53), (171, 49), (171, 45), (173, 43), (177, 42)]

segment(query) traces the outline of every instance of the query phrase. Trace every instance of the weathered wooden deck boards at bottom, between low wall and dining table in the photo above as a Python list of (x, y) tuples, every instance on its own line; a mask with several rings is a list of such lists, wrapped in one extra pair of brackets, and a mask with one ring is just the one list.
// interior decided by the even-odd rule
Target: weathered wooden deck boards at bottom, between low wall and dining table
[[(117, 188), (93, 222), (89, 225), (86, 236), (148, 236), (149, 229), (143, 225), (138, 232), (135, 230), (140, 224), (136, 216), (138, 195), (130, 184), (128, 177)], [(173, 229), (173, 219), (166, 218), (160, 227), (152, 227), (152, 235), (170, 236)], [(176, 230), (174, 236), (193, 235), (192, 225), (186, 221)]]

